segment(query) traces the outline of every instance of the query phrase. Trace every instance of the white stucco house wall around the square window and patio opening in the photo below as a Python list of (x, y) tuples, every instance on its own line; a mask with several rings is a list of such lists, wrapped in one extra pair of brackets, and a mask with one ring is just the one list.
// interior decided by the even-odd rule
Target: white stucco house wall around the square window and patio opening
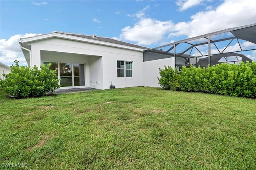
[[(86, 87), (110, 88), (110, 81), (116, 88), (142, 86), (142, 51), (120, 49), (67, 39), (51, 38), (31, 43), (32, 66), (40, 66), (44, 61), (73, 62), (86, 64)], [(76, 57), (66, 55), (40, 58), (41, 51), (56, 51), (79, 54)], [(55, 53), (56, 54), (56, 53)], [(93, 57), (96, 57), (95, 59)], [(98, 58), (101, 57), (101, 58)], [(130, 78), (117, 77), (117, 61), (132, 61), (133, 75)], [(102, 71), (100, 70), (102, 69)], [(92, 81), (92, 83), (91, 83)], [(93, 84), (93, 82), (97, 84)]]

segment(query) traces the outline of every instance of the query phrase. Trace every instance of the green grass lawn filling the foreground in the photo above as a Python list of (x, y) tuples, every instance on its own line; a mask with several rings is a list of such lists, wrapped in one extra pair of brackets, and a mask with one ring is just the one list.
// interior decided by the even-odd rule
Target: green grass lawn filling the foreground
[(256, 100), (136, 87), (0, 102), (2, 169), (256, 169)]

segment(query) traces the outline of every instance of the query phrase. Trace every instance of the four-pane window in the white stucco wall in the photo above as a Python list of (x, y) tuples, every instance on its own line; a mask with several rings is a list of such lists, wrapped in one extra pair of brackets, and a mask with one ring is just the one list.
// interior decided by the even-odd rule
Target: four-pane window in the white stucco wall
[(117, 77), (132, 77), (131, 61), (117, 61)]

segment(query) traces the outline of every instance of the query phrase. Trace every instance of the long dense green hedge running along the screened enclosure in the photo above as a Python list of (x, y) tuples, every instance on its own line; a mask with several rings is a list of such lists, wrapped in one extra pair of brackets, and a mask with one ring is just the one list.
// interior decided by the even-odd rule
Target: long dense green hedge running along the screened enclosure
[[(256, 61), (239, 64), (216, 64), (207, 68), (170, 66), (160, 69), (159, 84), (164, 89), (204, 92), (228, 96), (256, 97)], [(167, 87), (167, 88), (166, 88)]]

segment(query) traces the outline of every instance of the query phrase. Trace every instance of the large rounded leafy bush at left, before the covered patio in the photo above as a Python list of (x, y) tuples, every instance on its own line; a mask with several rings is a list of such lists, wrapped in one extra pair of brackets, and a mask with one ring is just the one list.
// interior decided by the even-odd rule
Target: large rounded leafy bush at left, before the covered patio
[(39, 97), (52, 93), (58, 85), (56, 70), (50, 70), (44, 64), (38, 69), (37, 66), (19, 66), (18, 61), (14, 61), (15, 66), (10, 66), (11, 72), (3, 74), (5, 80), (0, 80), (1, 88), (8, 95), (14, 98)]

